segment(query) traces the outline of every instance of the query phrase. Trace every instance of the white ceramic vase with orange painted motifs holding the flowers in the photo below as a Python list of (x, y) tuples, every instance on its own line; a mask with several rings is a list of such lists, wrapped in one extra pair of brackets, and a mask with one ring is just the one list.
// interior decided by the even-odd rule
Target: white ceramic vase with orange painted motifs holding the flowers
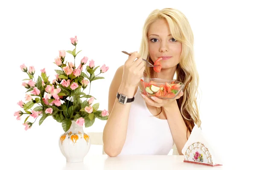
[(70, 129), (59, 137), (59, 147), (67, 162), (83, 162), (90, 149), (90, 136), (72, 120)]

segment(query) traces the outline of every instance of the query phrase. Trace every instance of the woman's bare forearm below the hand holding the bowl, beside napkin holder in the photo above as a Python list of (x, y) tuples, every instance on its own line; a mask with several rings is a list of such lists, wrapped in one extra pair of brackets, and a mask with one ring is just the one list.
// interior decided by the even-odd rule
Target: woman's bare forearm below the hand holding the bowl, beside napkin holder
[(172, 137), (176, 144), (178, 153), (180, 155), (183, 155), (181, 153), (181, 150), (186, 144), (187, 138), (189, 138), (190, 133), (187, 133), (187, 127), (180, 113), (177, 101), (175, 100), (174, 102), (172, 102), (170, 107), (164, 108), (163, 110), (166, 113), (167, 121), (169, 123), (169, 127), (171, 129)]

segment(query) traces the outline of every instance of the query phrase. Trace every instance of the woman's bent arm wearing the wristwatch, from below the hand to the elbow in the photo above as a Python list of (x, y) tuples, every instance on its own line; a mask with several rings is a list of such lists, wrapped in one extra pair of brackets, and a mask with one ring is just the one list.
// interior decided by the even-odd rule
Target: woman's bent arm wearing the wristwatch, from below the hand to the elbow
[(136, 86), (122, 83), (122, 74), (123, 66), (117, 69), (109, 88), (108, 111), (110, 115), (103, 130), (104, 151), (108, 156), (117, 156), (122, 151), (131, 108), (131, 103), (126, 103), (126, 105), (119, 103), (116, 93), (132, 98), (136, 89)]

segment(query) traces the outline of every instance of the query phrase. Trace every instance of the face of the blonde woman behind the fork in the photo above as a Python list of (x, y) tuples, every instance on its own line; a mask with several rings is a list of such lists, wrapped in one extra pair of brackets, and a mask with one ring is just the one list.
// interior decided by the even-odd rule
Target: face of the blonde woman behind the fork
[(152, 23), (147, 37), (152, 61), (155, 62), (159, 57), (163, 57), (160, 61), (162, 69), (175, 67), (180, 62), (182, 44), (172, 37), (166, 20), (157, 20)]

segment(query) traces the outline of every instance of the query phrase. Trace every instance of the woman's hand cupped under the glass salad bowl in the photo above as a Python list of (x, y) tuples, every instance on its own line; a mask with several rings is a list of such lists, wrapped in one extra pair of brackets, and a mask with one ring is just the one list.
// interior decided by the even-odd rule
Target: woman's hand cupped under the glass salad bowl
[(141, 93), (141, 96), (145, 100), (148, 105), (155, 106), (157, 108), (160, 107), (169, 107), (176, 99), (180, 99), (181, 96), (183, 96), (183, 91), (180, 92), (178, 96), (176, 96), (174, 99), (159, 99), (156, 96), (152, 96), (151, 99)]

